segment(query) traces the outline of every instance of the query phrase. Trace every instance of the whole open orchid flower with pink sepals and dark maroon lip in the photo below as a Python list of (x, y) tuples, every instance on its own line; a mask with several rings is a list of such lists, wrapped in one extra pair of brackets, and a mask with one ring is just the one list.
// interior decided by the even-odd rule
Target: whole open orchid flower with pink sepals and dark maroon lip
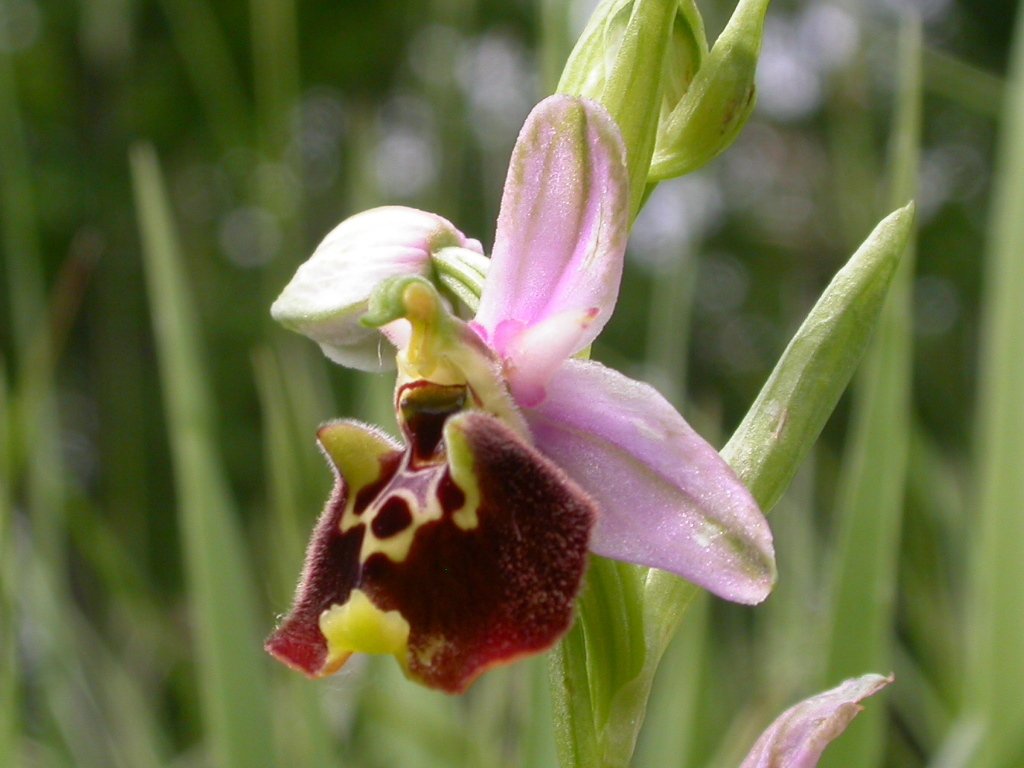
[[(421, 222), (412, 250), (482, 258), (434, 214), (381, 210), (364, 241), (393, 241), (394, 216)], [(629, 225), (614, 121), (552, 96), (513, 151), (471, 321), (422, 258), (406, 270), (390, 246), (356, 258), (345, 223), (313, 256), (325, 264), (299, 269), (274, 316), (345, 362), (332, 345), (356, 338), (350, 306), (367, 307), (362, 326), (397, 347), (404, 439), (352, 421), (321, 429), (336, 486), (272, 654), (318, 677), (353, 652), (390, 653), (410, 677), (462, 691), (568, 630), (588, 550), (729, 600), (766, 597), (774, 554), (751, 494), (653, 388), (581, 358), (614, 307)]]

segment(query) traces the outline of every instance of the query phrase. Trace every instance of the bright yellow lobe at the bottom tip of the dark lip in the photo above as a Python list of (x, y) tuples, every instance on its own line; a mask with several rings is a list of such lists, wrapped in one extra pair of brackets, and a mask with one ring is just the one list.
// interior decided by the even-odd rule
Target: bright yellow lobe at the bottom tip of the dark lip
[(352, 590), (348, 600), (321, 614), (321, 632), (327, 640), (326, 667), (351, 653), (390, 653), (402, 667), (409, 656), (409, 622), (397, 610), (381, 610), (362, 590)]

